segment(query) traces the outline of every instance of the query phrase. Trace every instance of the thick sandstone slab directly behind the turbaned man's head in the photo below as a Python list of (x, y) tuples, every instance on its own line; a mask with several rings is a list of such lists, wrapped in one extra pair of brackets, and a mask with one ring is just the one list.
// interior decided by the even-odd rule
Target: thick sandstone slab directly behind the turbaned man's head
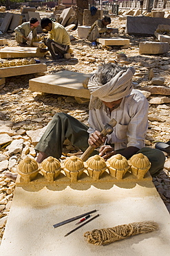
[(31, 91), (90, 98), (89, 90), (83, 87), (83, 82), (91, 76), (92, 74), (59, 71), (56, 74), (31, 79), (29, 86)]

